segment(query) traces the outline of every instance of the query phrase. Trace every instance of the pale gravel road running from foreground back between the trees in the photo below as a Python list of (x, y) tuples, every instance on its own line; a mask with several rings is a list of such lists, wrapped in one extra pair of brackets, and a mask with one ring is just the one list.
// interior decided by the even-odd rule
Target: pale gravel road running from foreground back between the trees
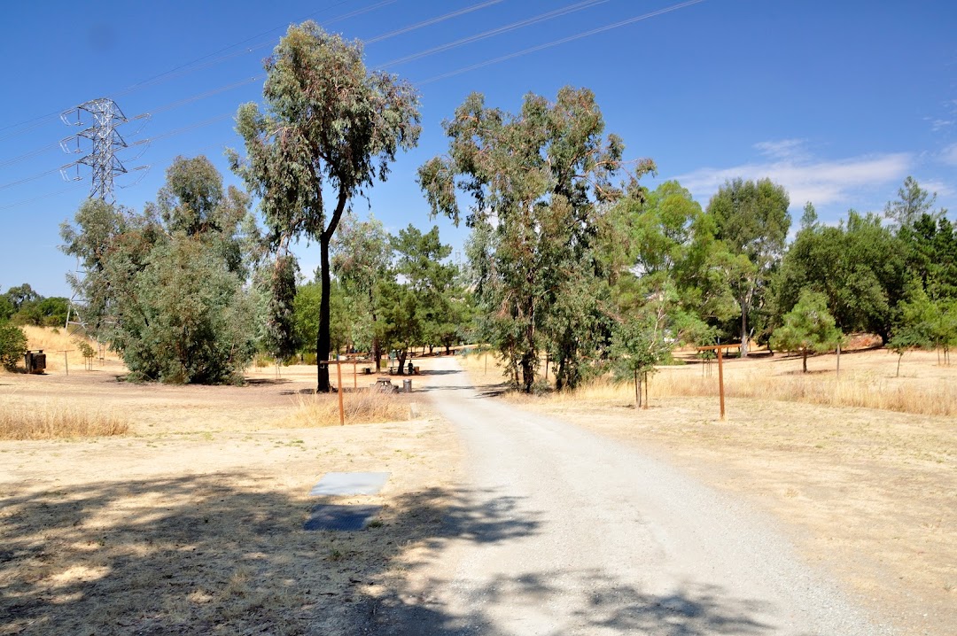
[(367, 633), (894, 633), (767, 517), (634, 449), (483, 397), (453, 359), (434, 406), (468, 461), (434, 558)]

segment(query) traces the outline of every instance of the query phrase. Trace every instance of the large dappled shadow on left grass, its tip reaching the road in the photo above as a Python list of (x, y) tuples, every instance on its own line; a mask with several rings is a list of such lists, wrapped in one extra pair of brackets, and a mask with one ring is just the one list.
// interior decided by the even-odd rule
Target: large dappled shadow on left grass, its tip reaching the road
[(430, 489), (399, 497), (377, 527), (307, 532), (317, 498), (269, 482), (230, 472), (11, 489), (0, 633), (366, 633), (371, 590), (410, 544), (507, 541), (538, 526), (513, 518), (509, 497)]

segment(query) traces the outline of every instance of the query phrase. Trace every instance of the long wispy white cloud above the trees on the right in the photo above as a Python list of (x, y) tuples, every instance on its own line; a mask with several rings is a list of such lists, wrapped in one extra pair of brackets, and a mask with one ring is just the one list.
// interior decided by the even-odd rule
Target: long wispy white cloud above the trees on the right
[(800, 208), (807, 201), (815, 206), (853, 202), (858, 190), (902, 181), (913, 163), (913, 155), (904, 152), (834, 161), (785, 158), (726, 168), (704, 167), (679, 175), (676, 179), (699, 200), (706, 202), (729, 179), (767, 177), (785, 186), (790, 194), (791, 207)]

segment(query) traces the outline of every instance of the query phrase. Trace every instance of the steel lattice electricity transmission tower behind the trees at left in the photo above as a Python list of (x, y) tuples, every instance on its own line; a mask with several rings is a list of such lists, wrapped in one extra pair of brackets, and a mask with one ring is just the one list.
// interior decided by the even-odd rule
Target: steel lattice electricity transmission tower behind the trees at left
[[(148, 118), (148, 115), (141, 115), (133, 120)], [(68, 126), (83, 127), (78, 133), (70, 135), (60, 141), (60, 147), (63, 152), (68, 154), (83, 155), (77, 161), (60, 167), (60, 174), (66, 181), (79, 181), (82, 177), (79, 174), (80, 165), (88, 165), (91, 169), (90, 178), (90, 198), (99, 198), (106, 203), (115, 203), (116, 197), (113, 193), (114, 178), (128, 172), (126, 166), (117, 156), (117, 153), (124, 148), (129, 147), (120, 134), (119, 128), (128, 120), (123, 115), (120, 106), (113, 99), (100, 98), (91, 99), (83, 102), (74, 108), (63, 111), (60, 114), (60, 120)], [(137, 131), (139, 132), (139, 131)], [(148, 143), (148, 140), (133, 143), (140, 145)], [(145, 170), (149, 166), (141, 165), (134, 170)], [(69, 174), (71, 168), (76, 169), (74, 175)], [(86, 323), (83, 321), (80, 309), (86, 305), (86, 298), (83, 297), (81, 290), (82, 276), (85, 274), (79, 267), (79, 258), (77, 259), (77, 271), (74, 280), (74, 292), (70, 298), (70, 305), (67, 309), (66, 325), (64, 328), (69, 333), (70, 325), (75, 325), (79, 329), (86, 331)]]

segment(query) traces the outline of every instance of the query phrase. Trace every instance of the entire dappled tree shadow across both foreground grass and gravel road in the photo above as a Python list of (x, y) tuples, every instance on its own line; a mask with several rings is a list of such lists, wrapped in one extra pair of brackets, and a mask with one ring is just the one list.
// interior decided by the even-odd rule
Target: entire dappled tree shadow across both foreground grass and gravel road
[[(603, 572), (529, 572), (475, 590), (467, 616), (413, 598), (390, 571), (411, 546), (534, 536), (535, 514), (493, 491), (398, 497), (358, 533), (302, 529), (315, 498), (242, 472), (117, 480), (2, 500), (0, 633), (503, 634), (488, 608), (508, 595), (540, 607), (557, 583), (582, 590), (581, 633), (766, 634), (755, 606), (725, 590), (658, 597)], [(414, 571), (421, 563), (406, 564)], [(451, 581), (430, 581), (434, 589)], [(478, 630), (478, 631), (477, 631)]]

